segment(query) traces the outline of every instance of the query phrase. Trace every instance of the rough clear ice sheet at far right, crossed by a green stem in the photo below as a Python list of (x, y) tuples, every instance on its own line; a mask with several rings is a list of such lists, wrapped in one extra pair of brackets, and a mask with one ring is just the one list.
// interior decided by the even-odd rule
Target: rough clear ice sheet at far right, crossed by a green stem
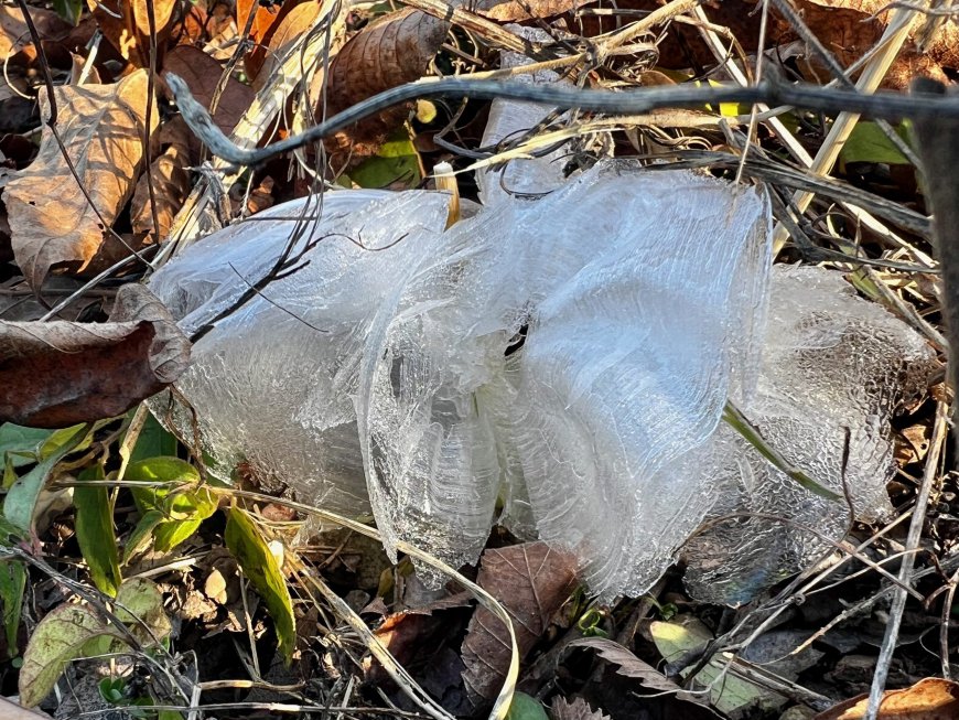
[[(787, 460), (843, 493), (859, 519), (892, 508), (890, 418), (922, 393), (936, 355), (905, 323), (859, 299), (841, 273), (774, 268), (759, 383), (740, 408)], [(685, 548), (687, 583), (703, 600), (739, 603), (840, 539), (850, 511), (802, 490), (729, 427), (691, 458), (710, 477), (712, 519), (739, 515)], [(692, 470), (692, 469), (690, 469)], [(750, 517), (761, 514), (783, 519)]]

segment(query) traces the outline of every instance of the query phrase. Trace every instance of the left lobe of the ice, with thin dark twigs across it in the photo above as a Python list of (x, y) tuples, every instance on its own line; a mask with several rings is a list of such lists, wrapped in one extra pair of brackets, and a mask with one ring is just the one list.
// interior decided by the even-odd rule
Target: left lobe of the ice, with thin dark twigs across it
[[(258, 282), (291, 238), (297, 250), (315, 244), (299, 270), (194, 346), (177, 383), (220, 474), (244, 462), (268, 487), (347, 515), (368, 512), (353, 406), (365, 333), (446, 213), (439, 193), (328, 193), (322, 219), (315, 203), (287, 203), (205, 238), (153, 276), (151, 289), (193, 333)], [(152, 401), (161, 418), (165, 406)], [(175, 412), (191, 437), (190, 416)]]

